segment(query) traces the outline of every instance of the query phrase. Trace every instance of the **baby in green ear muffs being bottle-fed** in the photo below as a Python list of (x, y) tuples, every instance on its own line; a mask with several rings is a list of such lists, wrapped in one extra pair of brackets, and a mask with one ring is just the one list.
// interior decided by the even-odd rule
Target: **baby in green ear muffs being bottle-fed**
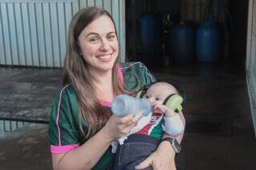
[[(134, 169), (154, 152), (164, 132), (170, 136), (178, 136), (184, 132), (184, 125), (178, 115), (182, 110), (182, 97), (174, 85), (155, 82), (147, 85), (138, 96), (148, 99), (151, 103), (150, 122), (128, 136), (124, 144), (118, 145), (114, 161), (115, 170)], [(136, 126), (140, 126), (140, 121)], [(114, 148), (114, 144), (112, 146)]]

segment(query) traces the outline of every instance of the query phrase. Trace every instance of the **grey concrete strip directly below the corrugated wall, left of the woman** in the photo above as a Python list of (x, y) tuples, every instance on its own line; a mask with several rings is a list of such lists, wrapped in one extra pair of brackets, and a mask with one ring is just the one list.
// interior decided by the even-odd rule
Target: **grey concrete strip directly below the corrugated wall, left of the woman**
[(48, 122), (61, 69), (0, 69), (0, 117)]

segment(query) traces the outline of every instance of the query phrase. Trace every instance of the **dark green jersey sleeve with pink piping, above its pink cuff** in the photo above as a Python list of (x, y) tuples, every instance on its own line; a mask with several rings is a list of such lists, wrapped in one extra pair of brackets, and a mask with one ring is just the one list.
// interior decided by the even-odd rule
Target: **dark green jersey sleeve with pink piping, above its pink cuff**
[(66, 86), (57, 92), (54, 106), (50, 113), (50, 144), (59, 146), (78, 144), (77, 119), (77, 99), (70, 86)]

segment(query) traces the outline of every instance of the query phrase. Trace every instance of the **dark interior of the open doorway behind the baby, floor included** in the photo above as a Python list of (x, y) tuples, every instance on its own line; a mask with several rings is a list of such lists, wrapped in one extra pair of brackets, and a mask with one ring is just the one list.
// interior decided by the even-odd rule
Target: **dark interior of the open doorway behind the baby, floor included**
[[(158, 80), (178, 83), (186, 95), (186, 131), (182, 152), (176, 159), (178, 169), (254, 169), (256, 146), (245, 69), (248, 1), (222, 1), (221, 8), (218, 2), (221, 1), (126, 0), (127, 60), (142, 61)], [(161, 22), (157, 30), (146, 30), (148, 39), (142, 40), (142, 19), (147, 14), (160, 16)], [(166, 24), (168, 14), (170, 20)], [(214, 21), (221, 28), (218, 53), (210, 61), (200, 59), (197, 49), (197, 30), (205, 20)], [(193, 41), (191, 37), (183, 39), (184, 43), (189, 42), (185, 47), (177, 45), (182, 37), (170, 41), (175, 35), (170, 30), (181, 22), (194, 35)], [(160, 35), (160, 43), (155, 43), (158, 38), (151, 41), (155, 37), (150, 34)], [(174, 42), (177, 44), (171, 44)], [(198, 48), (207, 49), (207, 43)]]

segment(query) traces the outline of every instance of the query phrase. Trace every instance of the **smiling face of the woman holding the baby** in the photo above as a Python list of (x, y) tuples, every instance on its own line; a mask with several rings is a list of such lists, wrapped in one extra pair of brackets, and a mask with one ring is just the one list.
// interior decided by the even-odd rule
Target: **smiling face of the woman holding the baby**
[(102, 15), (86, 26), (78, 36), (78, 44), (90, 73), (112, 70), (118, 57), (118, 38), (108, 16)]

